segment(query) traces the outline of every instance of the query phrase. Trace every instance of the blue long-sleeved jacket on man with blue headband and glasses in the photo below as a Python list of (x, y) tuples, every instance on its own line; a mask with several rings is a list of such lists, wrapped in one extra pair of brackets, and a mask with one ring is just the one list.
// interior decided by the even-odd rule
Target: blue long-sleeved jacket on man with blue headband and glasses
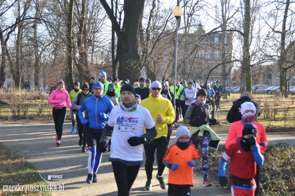
[(105, 119), (109, 119), (109, 114), (114, 108), (113, 102), (106, 96), (96, 99), (93, 95), (85, 99), (79, 109), (79, 118), (83, 121), (83, 112), (87, 109), (89, 118), (89, 127), (93, 129), (102, 129), (105, 125)]

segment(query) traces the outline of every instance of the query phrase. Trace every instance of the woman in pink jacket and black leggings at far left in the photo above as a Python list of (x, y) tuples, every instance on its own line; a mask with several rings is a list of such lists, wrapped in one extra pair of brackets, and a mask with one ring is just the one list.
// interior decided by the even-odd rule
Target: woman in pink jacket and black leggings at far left
[(49, 99), (49, 104), (52, 105), (52, 116), (56, 131), (56, 146), (60, 146), (61, 135), (63, 134), (63, 122), (65, 122), (65, 116), (67, 115), (67, 104), (72, 108), (70, 102), (70, 96), (65, 90), (65, 83), (61, 80), (58, 83), (58, 88), (51, 92)]

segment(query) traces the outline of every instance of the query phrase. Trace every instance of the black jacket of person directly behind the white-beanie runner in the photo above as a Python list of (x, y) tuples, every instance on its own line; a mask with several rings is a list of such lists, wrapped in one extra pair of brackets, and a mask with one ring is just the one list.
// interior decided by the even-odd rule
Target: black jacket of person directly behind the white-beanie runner
[(250, 97), (241, 97), (240, 101), (233, 104), (232, 107), (230, 108), (230, 111), (228, 111), (227, 117), (226, 117), (226, 120), (228, 122), (232, 123), (232, 122), (237, 122), (239, 120), (242, 120), (241, 104), (244, 102), (252, 102), (255, 104), (255, 107), (256, 107), (255, 117), (257, 121), (257, 117), (260, 116), (262, 113), (260, 105), (258, 103), (253, 102)]

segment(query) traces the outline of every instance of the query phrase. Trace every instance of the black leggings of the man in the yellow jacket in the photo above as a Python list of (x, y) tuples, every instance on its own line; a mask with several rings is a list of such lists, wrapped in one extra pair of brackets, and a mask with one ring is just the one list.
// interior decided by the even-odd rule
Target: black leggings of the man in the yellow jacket
[(162, 176), (165, 169), (163, 164), (163, 157), (168, 149), (168, 140), (166, 137), (160, 137), (154, 139), (149, 144), (144, 144), (145, 148), (145, 173), (147, 174), (147, 179), (151, 180), (153, 175), (153, 163), (155, 161), (155, 151), (157, 149), (158, 162), (158, 175)]

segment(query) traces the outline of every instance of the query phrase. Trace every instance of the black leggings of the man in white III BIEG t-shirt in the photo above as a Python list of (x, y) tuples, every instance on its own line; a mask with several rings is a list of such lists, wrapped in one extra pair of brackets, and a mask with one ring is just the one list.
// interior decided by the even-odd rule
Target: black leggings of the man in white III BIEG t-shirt
[(118, 196), (129, 196), (140, 165), (127, 166), (120, 161), (112, 161), (112, 167), (117, 183)]

